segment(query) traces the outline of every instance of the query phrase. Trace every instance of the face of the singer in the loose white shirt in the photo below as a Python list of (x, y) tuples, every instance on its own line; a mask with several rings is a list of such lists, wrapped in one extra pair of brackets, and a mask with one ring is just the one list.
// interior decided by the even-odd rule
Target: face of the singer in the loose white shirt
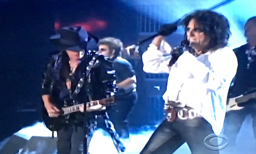
[(209, 37), (199, 27), (195, 19), (191, 19), (186, 28), (187, 40), (198, 54), (205, 53), (205, 47), (209, 43)]

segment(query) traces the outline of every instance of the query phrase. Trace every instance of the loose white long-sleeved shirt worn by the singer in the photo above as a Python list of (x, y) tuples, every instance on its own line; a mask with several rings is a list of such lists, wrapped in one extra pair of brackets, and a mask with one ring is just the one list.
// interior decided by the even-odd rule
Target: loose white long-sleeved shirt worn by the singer
[(227, 93), (238, 67), (233, 50), (224, 47), (199, 57), (186, 51), (169, 69), (167, 64), (170, 59), (164, 58), (163, 53), (170, 53), (170, 48), (166, 42), (161, 43), (163, 45), (167, 47), (158, 50), (157, 46), (150, 44), (142, 55), (143, 70), (169, 73), (163, 99), (181, 102), (181, 107), (194, 108), (219, 135), (226, 114)]

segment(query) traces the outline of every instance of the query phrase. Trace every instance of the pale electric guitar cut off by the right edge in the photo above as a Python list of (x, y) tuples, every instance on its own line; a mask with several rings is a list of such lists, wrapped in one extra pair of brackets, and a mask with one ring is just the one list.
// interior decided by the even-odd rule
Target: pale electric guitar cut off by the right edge
[(228, 100), (228, 105), (226, 107), (226, 112), (231, 111), (231, 110), (241, 110), (244, 107), (239, 107), (238, 106), (239, 104), (241, 104), (243, 102), (246, 102), (248, 100), (251, 100), (251, 99), (255, 99), (255, 98), (256, 98), (256, 92), (252, 92), (252, 93), (249, 93), (249, 94), (240, 95), (240, 96), (237, 96), (237, 97), (230, 98)]

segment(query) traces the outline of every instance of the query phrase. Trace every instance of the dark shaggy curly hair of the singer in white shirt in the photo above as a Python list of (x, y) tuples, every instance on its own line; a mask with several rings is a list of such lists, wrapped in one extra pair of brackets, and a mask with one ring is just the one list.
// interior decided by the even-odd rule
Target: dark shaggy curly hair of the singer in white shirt
[(210, 38), (207, 50), (227, 46), (231, 32), (229, 21), (224, 15), (210, 10), (197, 10), (183, 19), (183, 25), (187, 27), (191, 19), (195, 19), (204, 34)]

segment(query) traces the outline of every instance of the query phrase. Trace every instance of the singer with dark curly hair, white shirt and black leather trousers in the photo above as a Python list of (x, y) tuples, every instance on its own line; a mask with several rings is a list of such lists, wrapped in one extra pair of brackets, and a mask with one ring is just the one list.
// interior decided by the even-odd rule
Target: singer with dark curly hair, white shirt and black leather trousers
[(195, 53), (185, 51), (170, 67), (172, 57), (163, 56), (166, 52), (172, 55), (170, 46), (163, 36), (157, 36), (142, 55), (143, 70), (169, 73), (163, 99), (178, 102), (177, 112), (193, 109), (197, 116), (164, 120), (141, 153), (173, 153), (184, 142), (192, 153), (219, 153), (208, 149), (204, 139), (222, 131), (227, 93), (237, 72), (237, 57), (227, 46), (229, 23), (225, 16), (209, 10), (195, 11), (183, 21)]

